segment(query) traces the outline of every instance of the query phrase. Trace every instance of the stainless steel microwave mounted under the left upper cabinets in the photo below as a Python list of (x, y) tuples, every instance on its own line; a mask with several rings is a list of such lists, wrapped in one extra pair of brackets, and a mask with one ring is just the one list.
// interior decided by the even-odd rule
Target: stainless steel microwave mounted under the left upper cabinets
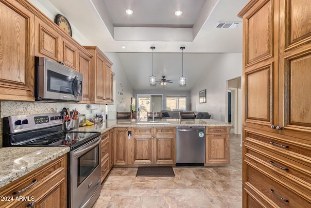
[(46, 57), (35, 57), (35, 100), (81, 101), (83, 75)]

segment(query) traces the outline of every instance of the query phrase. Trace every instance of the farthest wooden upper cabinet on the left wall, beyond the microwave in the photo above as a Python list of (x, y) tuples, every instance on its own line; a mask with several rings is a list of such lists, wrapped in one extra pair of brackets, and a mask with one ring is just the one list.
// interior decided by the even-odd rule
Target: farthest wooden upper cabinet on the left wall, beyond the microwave
[(84, 46), (93, 56), (91, 58), (91, 70), (95, 75), (93, 78), (94, 93), (91, 98), (92, 103), (113, 104), (112, 89), (112, 62), (96, 46)]

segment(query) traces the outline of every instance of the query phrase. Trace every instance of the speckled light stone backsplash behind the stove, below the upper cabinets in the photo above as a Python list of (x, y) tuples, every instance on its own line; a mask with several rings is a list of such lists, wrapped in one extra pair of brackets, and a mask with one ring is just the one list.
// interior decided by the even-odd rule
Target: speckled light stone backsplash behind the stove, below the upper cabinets
[(89, 111), (86, 110), (85, 103), (0, 101), (0, 147), (2, 147), (3, 117), (37, 113), (58, 113), (61, 112), (63, 108), (69, 108), (70, 111), (76, 109), (79, 113), (85, 113), (86, 118), (90, 118), (93, 117), (95, 113), (106, 112), (106, 105), (98, 106), (97, 110), (93, 110), (93, 113), (89, 113)]

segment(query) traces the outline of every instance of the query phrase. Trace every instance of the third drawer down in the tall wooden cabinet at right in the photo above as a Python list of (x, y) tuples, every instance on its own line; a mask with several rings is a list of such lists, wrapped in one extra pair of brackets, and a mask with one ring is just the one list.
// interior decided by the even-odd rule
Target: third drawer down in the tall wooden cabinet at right
[(245, 187), (254, 190), (262, 199), (268, 199), (271, 207), (310, 207), (310, 193), (279, 180), (279, 176), (262, 169), (247, 158), (243, 158), (243, 167), (248, 173), (245, 176), (247, 178), (243, 178)]

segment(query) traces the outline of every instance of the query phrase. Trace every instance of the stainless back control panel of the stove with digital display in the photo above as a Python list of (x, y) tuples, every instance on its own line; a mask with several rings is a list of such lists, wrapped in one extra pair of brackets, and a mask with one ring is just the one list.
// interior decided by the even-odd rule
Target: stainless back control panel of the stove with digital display
[(26, 132), (63, 124), (61, 113), (13, 115), (5, 120), (8, 122), (11, 133)]

